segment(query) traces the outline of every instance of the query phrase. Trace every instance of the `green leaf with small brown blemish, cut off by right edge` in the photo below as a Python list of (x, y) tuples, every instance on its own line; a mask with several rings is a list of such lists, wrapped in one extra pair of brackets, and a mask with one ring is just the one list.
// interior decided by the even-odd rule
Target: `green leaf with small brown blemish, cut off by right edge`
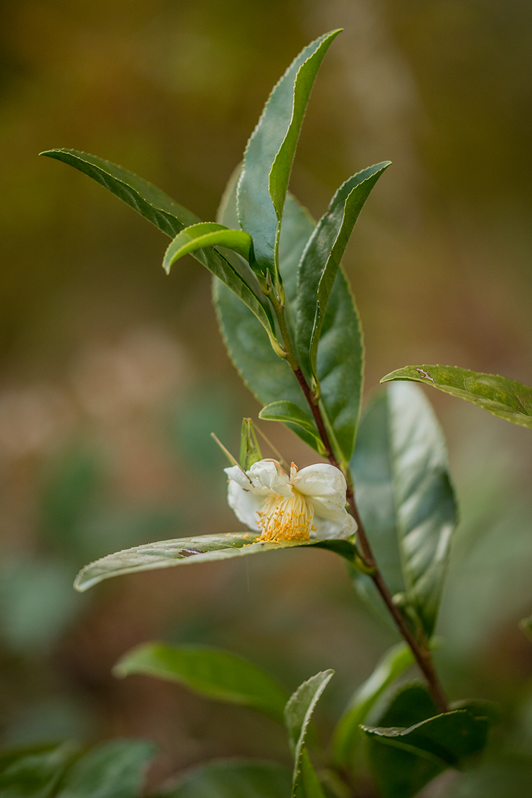
[(387, 374), (381, 382), (392, 380), (432, 385), (471, 401), (494, 416), (532, 429), (532, 387), (509, 377), (460, 369), (457, 365), (407, 365)]

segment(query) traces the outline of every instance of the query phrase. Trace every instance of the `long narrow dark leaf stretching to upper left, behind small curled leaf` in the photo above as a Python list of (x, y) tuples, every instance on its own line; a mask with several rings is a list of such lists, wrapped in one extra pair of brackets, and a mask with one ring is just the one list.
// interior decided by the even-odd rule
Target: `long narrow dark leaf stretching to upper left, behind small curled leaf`
[[(201, 223), (198, 216), (176, 203), (160, 188), (156, 188), (148, 183), (148, 180), (143, 180), (121, 166), (111, 164), (108, 160), (70, 149), (47, 150), (41, 152), (41, 155), (61, 160), (92, 177), (171, 238), (178, 235), (185, 227)], [(270, 307), (260, 291), (256, 290), (249, 275), (244, 273), (242, 276), (241, 272), (234, 269), (231, 263), (212, 247), (195, 251), (192, 255), (222, 280), (231, 291), (234, 291), (238, 299), (244, 302), (266, 330), (271, 345), (275, 346), (275, 325)], [(247, 271), (250, 272), (249, 267)]]

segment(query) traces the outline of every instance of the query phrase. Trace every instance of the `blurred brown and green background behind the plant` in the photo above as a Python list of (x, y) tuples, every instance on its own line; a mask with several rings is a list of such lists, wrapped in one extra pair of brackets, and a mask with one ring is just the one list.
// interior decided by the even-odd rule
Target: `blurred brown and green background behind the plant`
[[(77, 595), (118, 548), (239, 528), (214, 431), (238, 448), (258, 405), (220, 341), (210, 279), (167, 278), (166, 239), (85, 176), (37, 157), (93, 152), (204, 219), (274, 82), (342, 26), (321, 68), (291, 188), (321, 215), (346, 177), (393, 166), (345, 258), (368, 392), (442, 362), (532, 383), (532, 6), (526, 0), (0, 2), (0, 741), (150, 737), (152, 784), (242, 754), (288, 761), (282, 730), (148, 678), (151, 638), (253, 658), (287, 688), (337, 675), (324, 733), (393, 634), (342, 563), (294, 551), (118, 579)], [(532, 438), (430, 394), (462, 508), (437, 655), (451, 697), (502, 703), (532, 745)], [(312, 453), (265, 430), (288, 460)]]

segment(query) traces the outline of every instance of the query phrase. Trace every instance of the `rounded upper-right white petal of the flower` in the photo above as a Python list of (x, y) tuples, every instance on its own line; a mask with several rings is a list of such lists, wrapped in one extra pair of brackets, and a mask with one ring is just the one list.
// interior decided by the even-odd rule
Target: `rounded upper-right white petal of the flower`
[(339, 519), (345, 512), (345, 476), (329, 463), (317, 463), (301, 468), (292, 480), (294, 488), (309, 499), (316, 516)]

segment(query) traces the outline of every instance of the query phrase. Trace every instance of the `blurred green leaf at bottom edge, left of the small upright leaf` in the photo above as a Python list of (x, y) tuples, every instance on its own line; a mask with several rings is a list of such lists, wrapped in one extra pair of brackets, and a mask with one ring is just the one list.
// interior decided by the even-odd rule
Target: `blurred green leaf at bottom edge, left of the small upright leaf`
[(274, 762), (214, 760), (179, 776), (161, 798), (286, 798), (292, 776)]

